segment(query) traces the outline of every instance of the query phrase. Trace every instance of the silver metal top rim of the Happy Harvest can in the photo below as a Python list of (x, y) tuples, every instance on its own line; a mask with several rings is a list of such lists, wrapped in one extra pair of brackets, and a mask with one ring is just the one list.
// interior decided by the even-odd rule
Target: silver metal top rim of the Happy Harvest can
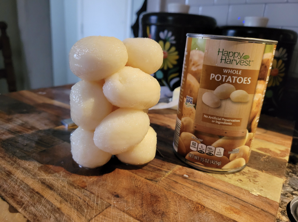
[(234, 36), (224, 36), (224, 35), (203, 35), (203, 34), (187, 33), (186, 36), (191, 38), (222, 39), (222, 40), (228, 40), (228, 41), (261, 43), (261, 44), (269, 44), (269, 45), (277, 44), (277, 41), (275, 40), (254, 39), (254, 38), (234, 37)]

